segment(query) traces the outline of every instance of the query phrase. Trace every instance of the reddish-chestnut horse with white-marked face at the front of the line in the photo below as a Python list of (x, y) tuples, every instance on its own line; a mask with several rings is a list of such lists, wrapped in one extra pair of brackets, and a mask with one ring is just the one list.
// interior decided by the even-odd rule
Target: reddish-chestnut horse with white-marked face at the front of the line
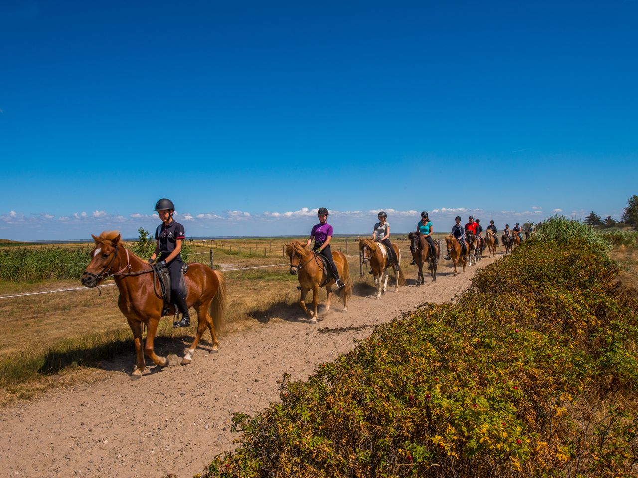
[[(156, 355), (153, 350), (153, 340), (164, 306), (161, 286), (154, 268), (126, 249), (120, 242), (117, 231), (104, 231), (99, 237), (93, 236), (93, 239), (95, 248), (91, 251), (91, 263), (82, 273), (80, 280), (85, 287), (96, 287), (108, 277), (115, 279), (120, 293), (117, 306), (133, 331), (137, 354), (137, 365), (133, 368), (133, 375), (140, 376), (144, 372), (142, 324), (147, 327), (144, 352), (155, 365), (167, 366), (168, 359)], [(186, 304), (197, 310), (197, 335), (193, 344), (186, 349), (182, 365), (193, 361), (195, 347), (206, 328), (211, 331), (212, 349), (218, 349), (217, 333), (225, 325), (226, 301), (226, 282), (223, 276), (204, 264), (189, 264), (184, 279), (188, 289)]]

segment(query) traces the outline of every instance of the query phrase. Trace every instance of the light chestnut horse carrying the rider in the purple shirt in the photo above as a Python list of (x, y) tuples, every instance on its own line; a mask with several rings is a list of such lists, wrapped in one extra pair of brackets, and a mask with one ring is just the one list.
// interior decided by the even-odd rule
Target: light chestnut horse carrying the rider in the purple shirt
[[(286, 254), (290, 257), (290, 274), (296, 275), (299, 279), (301, 296), (299, 298), (299, 306), (310, 317), (311, 322), (317, 320), (317, 302), (319, 301), (319, 288), (325, 287), (328, 293), (328, 300), (325, 303), (325, 310), (330, 310), (330, 300), (332, 299), (332, 286), (334, 286), (334, 277), (332, 273), (325, 270), (322, 260), (316, 256), (314, 252), (306, 247), (306, 242), (295, 241), (286, 245)], [(348, 297), (352, 295), (352, 280), (350, 279), (350, 270), (348, 269), (348, 259), (338, 250), (332, 252), (334, 265), (337, 266), (339, 277), (343, 280), (346, 287), (343, 289), (343, 311), (348, 312)], [(313, 311), (310, 312), (306, 307), (306, 294), (313, 291)]]

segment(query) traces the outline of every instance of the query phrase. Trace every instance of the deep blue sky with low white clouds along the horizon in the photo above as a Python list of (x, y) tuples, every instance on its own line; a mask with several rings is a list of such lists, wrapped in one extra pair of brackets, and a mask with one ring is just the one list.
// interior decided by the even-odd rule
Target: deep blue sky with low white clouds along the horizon
[(637, 193), (638, 1), (0, 3), (0, 238), (447, 230)]

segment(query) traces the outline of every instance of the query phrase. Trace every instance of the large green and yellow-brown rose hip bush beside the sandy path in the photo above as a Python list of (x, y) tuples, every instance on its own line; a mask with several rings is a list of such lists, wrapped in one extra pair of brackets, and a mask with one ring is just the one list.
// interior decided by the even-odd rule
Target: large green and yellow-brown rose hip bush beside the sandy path
[(236, 414), (202, 477), (634, 476), (637, 312), (603, 249), (530, 241)]

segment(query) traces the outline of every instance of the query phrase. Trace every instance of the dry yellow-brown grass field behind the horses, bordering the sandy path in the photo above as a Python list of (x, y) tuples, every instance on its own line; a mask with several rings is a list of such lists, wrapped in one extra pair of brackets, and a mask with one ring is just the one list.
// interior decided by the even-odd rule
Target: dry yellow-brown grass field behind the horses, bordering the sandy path
[[(283, 308), (297, 307), (293, 305), (299, 300), (297, 279), (288, 273), (285, 265), (288, 258), (283, 257), (283, 246), (292, 239), (193, 242), (193, 255), (186, 257), (186, 261), (209, 263), (212, 250), (216, 268), (227, 271), (226, 333), (241, 332), (258, 322), (278, 317)], [(406, 277), (413, 279), (416, 269), (406, 268), (411, 260), (406, 236), (395, 236), (393, 241), (402, 251)], [(61, 247), (85, 248), (86, 245)], [(359, 275), (356, 237), (334, 238), (332, 249), (344, 254), (347, 249), (346, 255), (352, 256), (348, 260), (355, 294), (369, 293), (373, 280), (367, 269), (364, 277)], [(272, 267), (232, 270), (262, 266)], [(80, 287), (79, 279), (34, 283), (0, 281), (0, 296), (77, 287)], [(31, 398), (56, 384), (95, 379), (107, 373), (100, 369), (100, 361), (113, 354), (129, 352), (133, 347), (126, 319), (117, 308), (117, 296), (117, 287), (110, 286), (102, 287), (101, 294), (96, 289), (83, 288), (0, 299), (0, 403)], [(165, 317), (158, 337), (186, 336), (186, 342), (193, 332), (193, 327), (173, 329), (172, 317)]]

